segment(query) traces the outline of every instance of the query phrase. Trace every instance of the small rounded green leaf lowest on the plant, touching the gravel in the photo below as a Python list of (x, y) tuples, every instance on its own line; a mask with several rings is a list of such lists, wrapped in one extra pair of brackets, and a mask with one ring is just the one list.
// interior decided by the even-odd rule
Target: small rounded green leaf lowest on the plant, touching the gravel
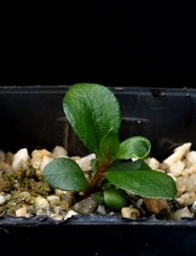
[(121, 189), (110, 189), (104, 191), (104, 202), (112, 209), (120, 210), (127, 204), (127, 197)]

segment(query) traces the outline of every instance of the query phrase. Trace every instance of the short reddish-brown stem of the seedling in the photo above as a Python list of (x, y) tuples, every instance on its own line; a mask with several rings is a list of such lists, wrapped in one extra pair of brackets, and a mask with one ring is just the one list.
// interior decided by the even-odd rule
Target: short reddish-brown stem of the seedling
[(94, 176), (90, 181), (89, 187), (84, 191), (84, 194), (83, 194), (84, 198), (88, 197), (93, 192), (95, 187), (98, 185), (99, 181), (103, 178), (104, 172), (109, 167), (109, 165), (110, 164), (107, 163), (104, 166), (101, 166), (98, 168), (97, 172), (94, 174)]

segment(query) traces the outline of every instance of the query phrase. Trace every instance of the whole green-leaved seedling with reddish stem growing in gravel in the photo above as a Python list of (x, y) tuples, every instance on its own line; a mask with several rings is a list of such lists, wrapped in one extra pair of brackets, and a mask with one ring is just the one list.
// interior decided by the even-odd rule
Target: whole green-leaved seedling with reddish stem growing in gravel
[(144, 161), (150, 156), (150, 141), (133, 136), (120, 142), (120, 103), (109, 88), (75, 84), (64, 96), (63, 109), (78, 139), (96, 160), (91, 164), (90, 181), (74, 160), (52, 160), (43, 170), (51, 187), (80, 192), (84, 198), (91, 196), (112, 209), (126, 205), (127, 193), (154, 199), (175, 197), (172, 177)]

